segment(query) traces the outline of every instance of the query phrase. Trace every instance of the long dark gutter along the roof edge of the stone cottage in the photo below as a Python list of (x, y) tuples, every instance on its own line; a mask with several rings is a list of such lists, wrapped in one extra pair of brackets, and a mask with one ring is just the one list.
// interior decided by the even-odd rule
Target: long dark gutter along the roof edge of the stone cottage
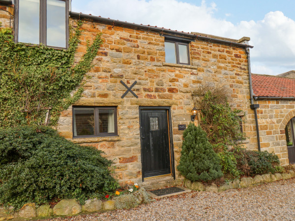
[(153, 27), (153, 26), (149, 26), (149, 25), (145, 26), (145, 25), (138, 25), (138, 24), (129, 23), (129, 22), (122, 22), (119, 20), (102, 18), (99, 16), (87, 15), (87, 14), (78, 13), (78, 12), (70, 11), (70, 16), (71, 17), (78, 17), (80, 19), (81, 18), (93, 19), (94, 21), (108, 23), (111, 25), (122, 25), (122, 26), (128, 26), (128, 27), (132, 27), (132, 28), (142, 28), (142, 29), (147, 29), (148, 31), (155, 31), (155, 32), (159, 32), (162, 34), (164, 34), (164, 33), (165, 34), (177, 34), (177, 35), (181, 35), (181, 36), (184, 36), (187, 38), (202, 39), (202, 40), (211, 41), (211, 42), (230, 44), (230, 45), (238, 46), (241, 48), (253, 48), (253, 46), (251, 46), (251, 45), (240, 44), (240, 43), (236, 43), (236, 42), (232, 42), (232, 41), (226, 41), (226, 40), (216, 39), (216, 38), (209, 38), (209, 37), (205, 37), (205, 36), (201, 36), (201, 35), (190, 34), (190, 33), (185, 33), (185, 32), (180, 32), (180, 31), (175, 31), (175, 30), (169, 30), (169, 29), (165, 29), (165, 28), (157, 28), (157, 27)]

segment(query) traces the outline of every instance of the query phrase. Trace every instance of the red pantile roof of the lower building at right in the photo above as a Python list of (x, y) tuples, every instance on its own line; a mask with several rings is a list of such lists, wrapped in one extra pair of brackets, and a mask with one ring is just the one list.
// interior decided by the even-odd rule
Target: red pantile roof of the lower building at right
[(295, 79), (252, 74), (254, 97), (295, 97)]

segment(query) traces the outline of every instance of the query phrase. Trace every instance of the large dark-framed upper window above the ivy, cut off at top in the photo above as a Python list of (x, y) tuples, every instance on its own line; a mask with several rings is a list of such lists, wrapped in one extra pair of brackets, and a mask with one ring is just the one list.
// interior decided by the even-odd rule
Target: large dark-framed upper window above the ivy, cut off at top
[(67, 48), (68, 11), (68, 0), (16, 0), (15, 41)]

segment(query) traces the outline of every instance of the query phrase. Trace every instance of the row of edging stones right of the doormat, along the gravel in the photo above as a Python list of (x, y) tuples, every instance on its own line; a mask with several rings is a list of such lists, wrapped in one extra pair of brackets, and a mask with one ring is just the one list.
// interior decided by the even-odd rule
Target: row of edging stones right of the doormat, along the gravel
[(184, 186), (194, 191), (207, 191), (218, 193), (229, 189), (246, 188), (255, 185), (260, 185), (263, 183), (271, 183), (274, 181), (291, 179), (293, 177), (295, 177), (295, 172), (294, 170), (290, 170), (289, 173), (267, 173), (263, 175), (256, 175), (254, 178), (243, 177), (240, 180), (236, 179), (232, 182), (226, 182), (224, 185), (220, 187), (217, 187), (214, 183), (210, 186), (204, 186), (201, 182), (191, 182), (190, 180), (185, 180)]

